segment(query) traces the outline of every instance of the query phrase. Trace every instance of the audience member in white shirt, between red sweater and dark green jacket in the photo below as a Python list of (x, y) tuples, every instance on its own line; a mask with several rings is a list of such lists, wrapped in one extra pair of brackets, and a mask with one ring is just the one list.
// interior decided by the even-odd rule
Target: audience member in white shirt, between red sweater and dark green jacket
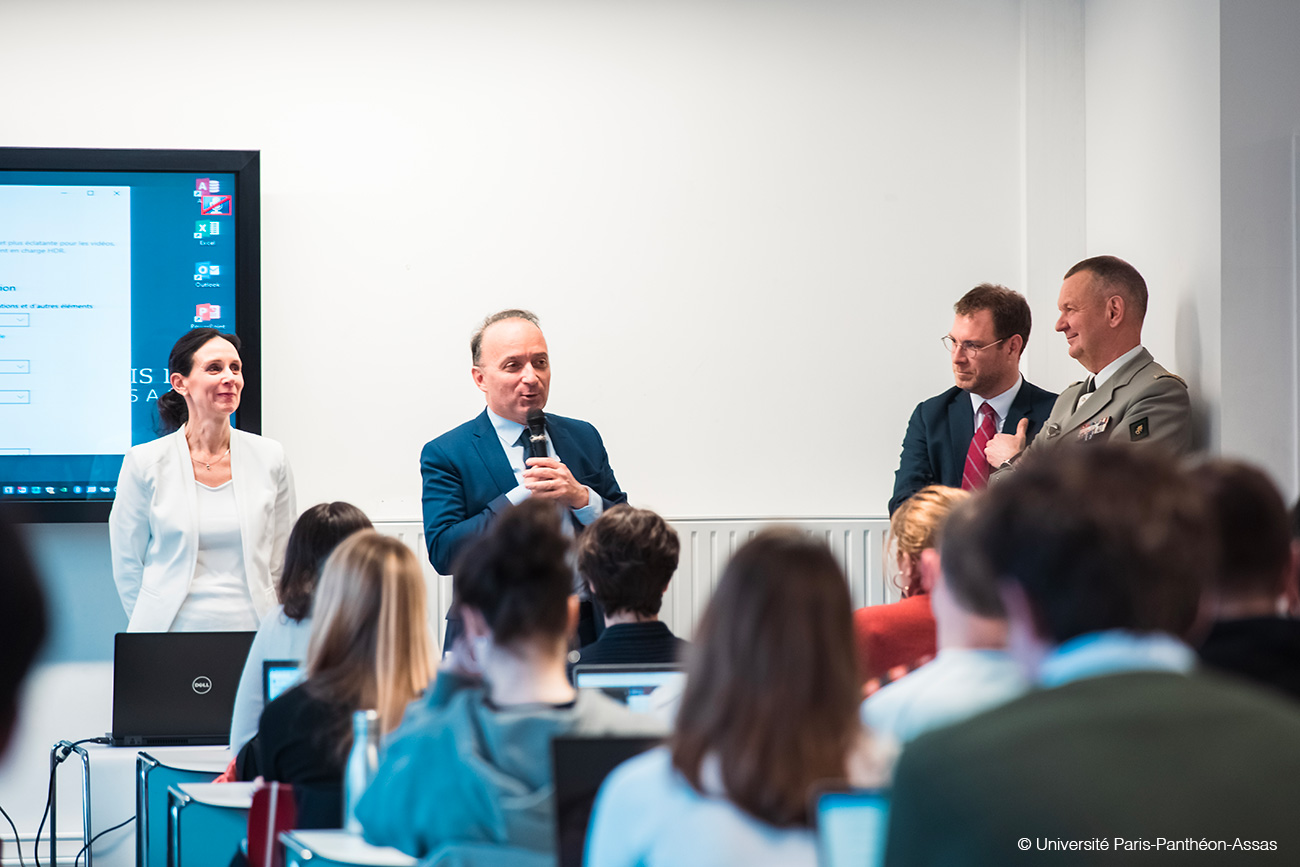
[(1006, 611), (997, 584), (971, 565), (974, 554), (962, 547), (968, 534), (958, 529), (949, 536), (978, 508), (976, 497), (953, 510), (939, 549), (920, 552), (920, 572), (932, 588), (939, 655), (862, 703), (863, 721), (879, 734), (906, 742), (1008, 702), (1028, 688), (1006, 651)]

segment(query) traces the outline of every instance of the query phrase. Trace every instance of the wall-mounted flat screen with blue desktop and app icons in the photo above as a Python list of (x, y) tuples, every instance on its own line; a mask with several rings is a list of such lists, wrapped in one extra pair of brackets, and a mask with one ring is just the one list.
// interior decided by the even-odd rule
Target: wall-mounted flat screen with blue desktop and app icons
[(18, 520), (107, 517), (186, 329), (243, 338), (234, 422), (259, 432), (257, 161), (0, 148), (0, 504)]

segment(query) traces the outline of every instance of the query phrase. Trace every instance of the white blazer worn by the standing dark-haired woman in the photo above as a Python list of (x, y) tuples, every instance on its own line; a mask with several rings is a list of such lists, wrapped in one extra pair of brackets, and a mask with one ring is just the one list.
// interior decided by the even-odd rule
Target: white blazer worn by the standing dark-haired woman
[[(230, 472), (244, 575), (257, 616), (276, 604), (289, 530), (298, 512), (294, 474), (274, 439), (230, 430)], [(190, 593), (199, 559), (198, 491), (185, 425), (134, 446), (108, 516), (113, 581), (127, 632), (166, 632)]]

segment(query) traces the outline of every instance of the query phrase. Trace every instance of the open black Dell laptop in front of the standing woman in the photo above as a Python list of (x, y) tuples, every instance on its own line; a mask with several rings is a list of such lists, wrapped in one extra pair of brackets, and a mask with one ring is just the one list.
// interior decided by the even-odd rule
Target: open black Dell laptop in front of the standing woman
[(230, 742), (252, 632), (121, 632), (113, 647), (113, 746)]

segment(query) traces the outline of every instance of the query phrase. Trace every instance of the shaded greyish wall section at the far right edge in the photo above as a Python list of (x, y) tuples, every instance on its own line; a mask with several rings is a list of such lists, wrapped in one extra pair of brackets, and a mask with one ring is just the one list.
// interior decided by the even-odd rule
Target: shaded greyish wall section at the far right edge
[(1295, 498), (1300, 4), (1232, 0), (1221, 29), (1223, 450), (1268, 467)]

